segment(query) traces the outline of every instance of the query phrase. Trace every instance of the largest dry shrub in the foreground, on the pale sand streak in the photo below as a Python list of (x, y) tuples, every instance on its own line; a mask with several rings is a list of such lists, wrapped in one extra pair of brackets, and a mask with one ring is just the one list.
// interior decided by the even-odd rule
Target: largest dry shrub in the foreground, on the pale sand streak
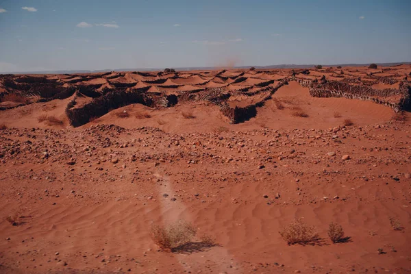
[(197, 230), (185, 221), (177, 221), (169, 226), (153, 225), (151, 236), (158, 247), (164, 251), (184, 245), (196, 236)]

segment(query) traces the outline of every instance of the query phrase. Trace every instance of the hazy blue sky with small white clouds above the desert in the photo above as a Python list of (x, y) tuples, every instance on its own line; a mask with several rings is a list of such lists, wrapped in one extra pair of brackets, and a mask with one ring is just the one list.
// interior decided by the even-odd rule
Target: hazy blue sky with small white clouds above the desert
[(411, 61), (411, 1), (0, 0), (0, 72)]

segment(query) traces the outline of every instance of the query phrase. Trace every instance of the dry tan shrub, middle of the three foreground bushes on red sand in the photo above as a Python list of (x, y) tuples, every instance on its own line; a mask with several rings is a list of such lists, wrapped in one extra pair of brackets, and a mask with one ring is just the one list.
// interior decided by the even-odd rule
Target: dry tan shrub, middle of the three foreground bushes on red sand
[(313, 226), (307, 225), (301, 219), (290, 223), (279, 232), (288, 245), (310, 245), (319, 240), (319, 234)]

